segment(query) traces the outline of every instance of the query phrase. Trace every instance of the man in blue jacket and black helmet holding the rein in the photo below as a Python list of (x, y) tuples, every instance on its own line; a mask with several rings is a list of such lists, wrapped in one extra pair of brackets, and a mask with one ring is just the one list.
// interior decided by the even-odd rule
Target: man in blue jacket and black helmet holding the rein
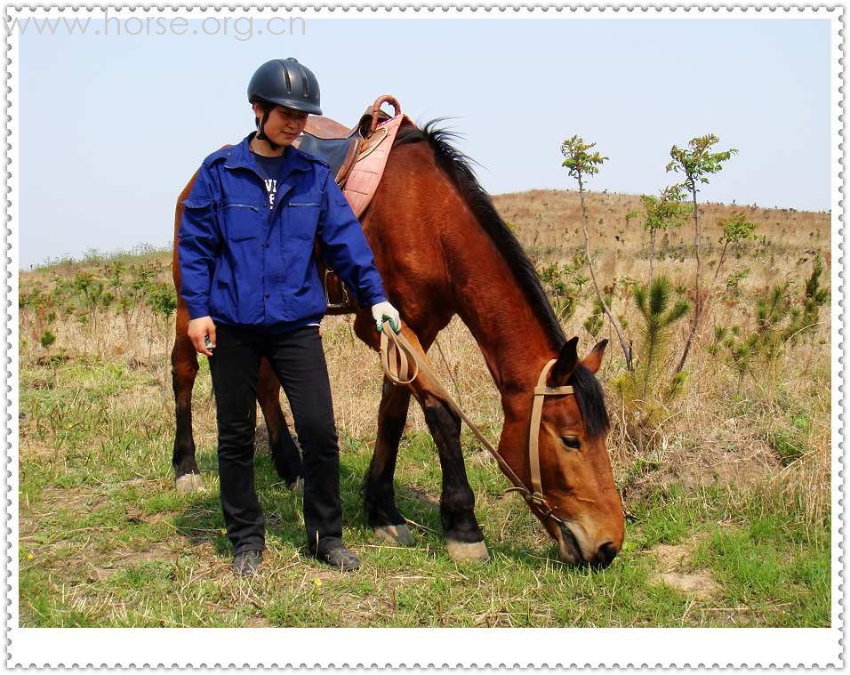
[(251, 78), (248, 100), (257, 131), (204, 159), (183, 200), (178, 231), (188, 336), (212, 372), (233, 567), (256, 573), (265, 548), (253, 439), (266, 356), (289, 399), (303, 451), (308, 550), (343, 571), (357, 569), (359, 559), (341, 539), (339, 446), (319, 335), (327, 304), (314, 241), (357, 303), (372, 308), (379, 330), (389, 317), (398, 331), (399, 316), (328, 165), (292, 146), (308, 115), (322, 113), (316, 76), (295, 59), (270, 60)]

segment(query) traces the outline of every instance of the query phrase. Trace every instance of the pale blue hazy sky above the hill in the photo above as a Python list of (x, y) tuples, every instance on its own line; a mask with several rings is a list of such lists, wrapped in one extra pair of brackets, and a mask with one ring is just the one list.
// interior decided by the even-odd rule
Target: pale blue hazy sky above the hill
[(702, 200), (830, 208), (829, 20), (333, 19), (269, 36), (255, 19), (250, 39), (245, 23), (99, 25), (20, 36), (20, 269), (168, 244), (204, 157), (253, 131), (253, 71), (287, 56), (346, 125), (382, 93), (417, 124), (451, 117), (492, 194), (576, 189), (573, 134), (609, 157), (588, 189), (657, 194), (678, 180), (670, 148), (715, 133), (739, 153)]

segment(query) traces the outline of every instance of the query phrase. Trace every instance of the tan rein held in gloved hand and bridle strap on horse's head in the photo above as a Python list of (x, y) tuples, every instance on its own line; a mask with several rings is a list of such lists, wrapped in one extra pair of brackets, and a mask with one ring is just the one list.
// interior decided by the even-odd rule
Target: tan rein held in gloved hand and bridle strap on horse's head
[(437, 374), (434, 372), (433, 368), (431, 368), (428, 359), (425, 358), (424, 355), (420, 356), (417, 351), (413, 349), (413, 346), (407, 338), (405, 338), (403, 333), (395, 333), (392, 330), (389, 326), (389, 319), (385, 321), (383, 328), (381, 329), (381, 366), (383, 366), (384, 374), (387, 376), (389, 381), (393, 382), (393, 384), (404, 386), (413, 382), (420, 371), (428, 375), (430, 380), (434, 382), (437, 394), (439, 394), (445, 400), (445, 403), (461, 417), (463, 422), (467, 423), (469, 429), (471, 429), (476, 435), (476, 438), (484, 444), (490, 454), (493, 455), (493, 459), (499, 463), (501, 470), (510, 479), (510, 482), (514, 484), (513, 487), (509, 487), (502, 494), (518, 492), (522, 495), (523, 499), (525, 499), (525, 502), (528, 503), (529, 507), (531, 507), (532, 504), (536, 504), (543, 511), (543, 515), (545, 517), (552, 518), (565, 526), (566, 524), (564, 520), (555, 514), (555, 511), (543, 496), (543, 486), (541, 484), (540, 475), (540, 452), (538, 446), (541, 414), (543, 410), (543, 397), (563, 396), (565, 394), (573, 393), (573, 387), (571, 386), (546, 386), (546, 377), (549, 374), (549, 370), (551, 370), (552, 366), (555, 365), (556, 361), (557, 359), (553, 358), (549, 361), (549, 363), (543, 366), (540, 377), (537, 380), (537, 386), (534, 388), (531, 427), (528, 430), (528, 461), (531, 468), (533, 489), (529, 490), (514, 470), (510, 468), (508, 462), (505, 462), (505, 460), (501, 457), (501, 454), (499, 454), (493, 445), (491, 445), (490, 441), (485, 438), (485, 435), (481, 433), (477, 426), (469, 420), (469, 417), (463, 413), (461, 406), (458, 406), (457, 402), (454, 398), (452, 398), (452, 395), (445, 390), (443, 383), (439, 381)]

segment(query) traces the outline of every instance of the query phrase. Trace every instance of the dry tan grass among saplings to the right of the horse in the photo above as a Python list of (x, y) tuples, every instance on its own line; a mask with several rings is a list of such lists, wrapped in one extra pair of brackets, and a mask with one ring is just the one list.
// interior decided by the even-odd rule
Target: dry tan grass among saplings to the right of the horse
[[(638, 209), (639, 198), (605, 193), (590, 193), (587, 197), (590, 243), (600, 283), (610, 284), (626, 277), (646, 281), (649, 277), (648, 236), (640, 227), (639, 219), (627, 222), (627, 213)], [(495, 203), (502, 218), (514, 227), (525, 250), (539, 264), (568, 262), (573, 253), (583, 249), (578, 192), (531, 190), (496, 197)], [(718, 220), (734, 211), (742, 211), (754, 221), (756, 234), (765, 236), (767, 244), (749, 245), (741, 258), (731, 256), (721, 269), (718, 284), (722, 284), (734, 269), (749, 268), (750, 275), (740, 284), (740, 301), (717, 301), (707, 310), (696, 348), (686, 365), (690, 371), (686, 396), (670, 409), (662, 436), (655, 439), (654, 445), (659, 449), (650, 459), (659, 465), (659, 470), (644, 482), (654, 485), (667, 474), (667, 478), (684, 481), (686, 485), (721, 480), (736, 484), (768, 482), (790, 492), (799, 489), (805, 495), (806, 510), (814, 522), (828, 513), (830, 504), (829, 311), (822, 311), (822, 323), (814, 338), (795, 345), (778, 365), (777, 389), (784, 392), (786, 402), (793, 402), (813, 420), (806, 431), (809, 449), (788, 467), (778, 462), (774, 450), (766, 442), (771, 432), (788, 425), (782, 415), (782, 405), (770, 399), (760, 382), (747, 382), (742, 391), (742, 398), (750, 405), (735, 404), (734, 374), (728, 367), (718, 364), (718, 359), (711, 357), (704, 346), (712, 340), (715, 325), (751, 327), (752, 298), (784, 280), (793, 280), (799, 287), (811, 271), (815, 254), (820, 254), (825, 261), (824, 276), (829, 278), (830, 215), (755, 205), (700, 205), (703, 284), (715, 276), (719, 254)], [(668, 244), (671, 253), (666, 260), (655, 262), (655, 274), (666, 275), (674, 285), (693, 288), (693, 257), (690, 253), (674, 257), (678, 252), (690, 251), (692, 246), (690, 223), (671, 232)], [(614, 310), (625, 313), (630, 326), (639, 324), (637, 312), (630, 303), (620, 301)], [(587, 300), (565, 324), (565, 333), (579, 335), (580, 345), (584, 344), (585, 349), (592, 345), (592, 338), (582, 323), (591, 311)], [(629, 328), (627, 332), (637, 343), (637, 330)], [(683, 321), (670, 344), (675, 360), (681, 354), (686, 332), (687, 325)], [(605, 336), (609, 338), (609, 348), (599, 377), (609, 382), (622, 371), (624, 361), (610, 327)], [(623, 469), (637, 457), (622, 423), (621, 408), (610, 391), (609, 402), (615, 422), (608, 446), (615, 466)]]

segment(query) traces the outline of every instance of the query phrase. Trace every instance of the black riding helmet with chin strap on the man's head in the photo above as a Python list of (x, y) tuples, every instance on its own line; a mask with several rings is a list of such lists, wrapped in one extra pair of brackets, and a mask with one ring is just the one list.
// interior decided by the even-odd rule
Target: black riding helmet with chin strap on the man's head
[(257, 68), (248, 83), (248, 102), (253, 104), (254, 101), (261, 103), (265, 111), (262, 121), (257, 125), (260, 130), (257, 138), (268, 141), (273, 147), (277, 147), (277, 144), (263, 132), (272, 108), (284, 106), (311, 115), (322, 114), (316, 76), (292, 57), (266, 61)]

